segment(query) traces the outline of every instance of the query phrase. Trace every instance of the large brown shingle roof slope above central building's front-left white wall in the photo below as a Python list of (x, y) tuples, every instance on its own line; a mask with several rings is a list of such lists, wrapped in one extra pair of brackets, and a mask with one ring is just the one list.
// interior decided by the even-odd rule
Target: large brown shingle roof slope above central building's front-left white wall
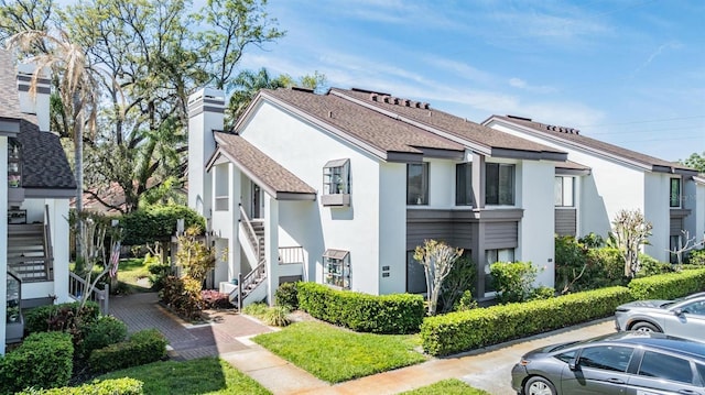
[(296, 89), (263, 90), (307, 117), (341, 130), (382, 152), (421, 154), (423, 149), (465, 152), (465, 146), (382, 113), (370, 111), (334, 95), (314, 95)]

